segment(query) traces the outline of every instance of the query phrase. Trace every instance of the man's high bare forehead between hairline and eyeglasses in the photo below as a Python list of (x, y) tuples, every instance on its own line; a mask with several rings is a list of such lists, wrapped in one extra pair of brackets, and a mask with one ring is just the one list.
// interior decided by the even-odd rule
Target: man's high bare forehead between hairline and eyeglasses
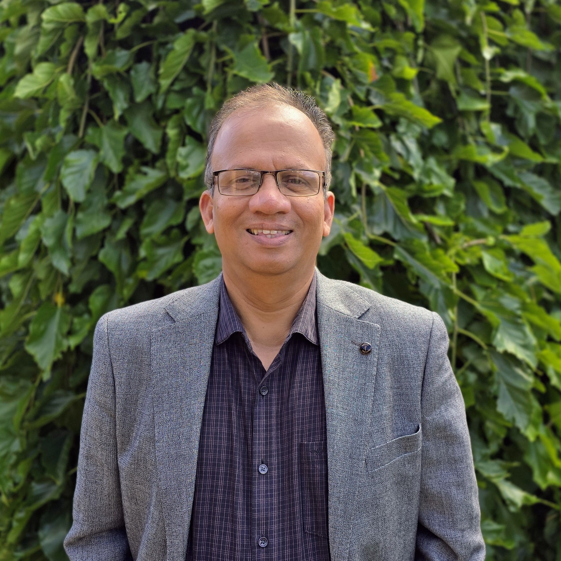
[(325, 151), (318, 130), (290, 105), (243, 108), (232, 113), (215, 140), (212, 167), (324, 169)]

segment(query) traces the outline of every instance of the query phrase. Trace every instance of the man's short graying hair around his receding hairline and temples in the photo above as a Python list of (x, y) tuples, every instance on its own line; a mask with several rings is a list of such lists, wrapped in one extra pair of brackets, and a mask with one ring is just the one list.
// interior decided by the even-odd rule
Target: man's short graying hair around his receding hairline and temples
[(218, 131), (222, 128), (226, 119), (231, 116), (234, 111), (238, 111), (238, 109), (256, 110), (269, 107), (270, 105), (290, 105), (291, 107), (295, 107), (314, 123), (325, 150), (324, 194), (327, 192), (331, 182), (331, 145), (335, 139), (335, 134), (329, 123), (329, 119), (311, 95), (307, 95), (300, 90), (285, 88), (275, 82), (272, 84), (257, 84), (251, 86), (251, 88), (240, 91), (240, 93), (234, 95), (222, 105), (222, 108), (210, 123), (208, 149), (206, 150), (205, 184), (211, 192), (213, 191), (213, 170), (210, 165), (210, 159), (212, 157), (216, 137), (218, 136)]

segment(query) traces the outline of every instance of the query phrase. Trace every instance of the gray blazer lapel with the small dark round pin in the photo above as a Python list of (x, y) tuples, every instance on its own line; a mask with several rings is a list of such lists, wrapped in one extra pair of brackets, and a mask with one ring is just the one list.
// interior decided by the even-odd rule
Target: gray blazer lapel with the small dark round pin
[[(318, 273), (317, 313), (327, 421), (329, 544), (346, 560), (355, 518), (357, 472), (364, 471), (373, 417), (380, 326), (359, 318), (370, 304)], [(362, 355), (359, 345), (370, 343)]]

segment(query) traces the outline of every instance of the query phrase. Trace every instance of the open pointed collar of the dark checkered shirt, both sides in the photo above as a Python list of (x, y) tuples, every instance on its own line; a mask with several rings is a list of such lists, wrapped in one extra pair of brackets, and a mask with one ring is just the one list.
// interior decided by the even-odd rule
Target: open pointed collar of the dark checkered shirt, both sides
[[(243, 329), (242, 322), (234, 310), (232, 301), (228, 296), (224, 278), (220, 283), (220, 311), (218, 314), (218, 325), (214, 341), (216, 344), (223, 343), (233, 333), (241, 333), (246, 339), (248, 346), (249, 339), (247, 338), (245, 329)], [(316, 273), (310, 284), (307, 296), (302, 304), (296, 318), (292, 322), (292, 327), (288, 332), (286, 341), (292, 336), (293, 333), (300, 333), (306, 337), (310, 343), (319, 345), (318, 325), (316, 322)]]

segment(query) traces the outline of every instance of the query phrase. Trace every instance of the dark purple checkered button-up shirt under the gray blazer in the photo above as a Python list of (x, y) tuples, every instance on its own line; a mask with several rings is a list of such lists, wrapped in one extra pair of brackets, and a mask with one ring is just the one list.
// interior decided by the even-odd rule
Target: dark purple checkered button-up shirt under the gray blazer
[(187, 561), (329, 560), (315, 284), (265, 371), (222, 282)]

